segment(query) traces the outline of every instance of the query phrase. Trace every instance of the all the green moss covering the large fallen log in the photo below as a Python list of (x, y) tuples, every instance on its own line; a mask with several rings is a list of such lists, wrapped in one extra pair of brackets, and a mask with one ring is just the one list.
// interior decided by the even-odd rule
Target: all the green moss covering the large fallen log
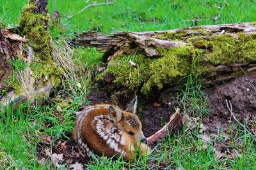
[[(119, 56), (108, 62), (108, 67), (98, 79), (107, 73), (113, 74), (113, 83), (127, 90), (140, 90), (148, 94), (152, 87), (163, 88), (177, 78), (189, 73), (191, 63), (196, 62), (195, 74), (211, 74), (210, 64), (229, 64), (256, 60), (256, 34), (221, 34), (210, 37), (191, 38), (191, 43), (175, 48), (157, 49), (161, 57), (147, 57), (140, 53), (134, 56)], [(131, 67), (132, 60), (138, 67)]]

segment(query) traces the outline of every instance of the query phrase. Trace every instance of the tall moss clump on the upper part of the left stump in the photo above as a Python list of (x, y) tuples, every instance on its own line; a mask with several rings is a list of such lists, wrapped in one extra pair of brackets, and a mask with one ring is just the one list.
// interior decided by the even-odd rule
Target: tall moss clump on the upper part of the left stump
[(49, 16), (47, 13), (37, 13), (35, 3), (29, 2), (20, 14), (20, 30), (34, 47), (35, 56), (43, 60), (51, 60), (51, 36), (48, 31)]

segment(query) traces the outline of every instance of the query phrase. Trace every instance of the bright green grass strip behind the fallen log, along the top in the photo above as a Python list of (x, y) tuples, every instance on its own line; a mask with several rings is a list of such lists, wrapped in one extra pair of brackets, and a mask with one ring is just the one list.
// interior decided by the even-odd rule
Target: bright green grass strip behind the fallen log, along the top
[[(22, 6), (27, 0), (1, 1), (0, 19), (6, 23), (17, 25)], [(96, 30), (110, 33), (115, 31), (156, 31), (188, 27), (193, 25), (188, 20), (200, 18), (200, 25), (225, 24), (232, 22), (250, 22), (256, 20), (255, 1), (136, 1), (114, 0), (113, 4), (93, 6), (82, 13), (84, 6), (92, 3), (105, 3), (106, 1), (54, 1), (49, 0), (49, 13), (59, 10), (62, 24), (69, 32)], [(218, 8), (214, 5), (225, 6), (221, 17), (214, 22), (212, 17), (218, 15)], [(68, 17), (71, 17), (68, 20)]]

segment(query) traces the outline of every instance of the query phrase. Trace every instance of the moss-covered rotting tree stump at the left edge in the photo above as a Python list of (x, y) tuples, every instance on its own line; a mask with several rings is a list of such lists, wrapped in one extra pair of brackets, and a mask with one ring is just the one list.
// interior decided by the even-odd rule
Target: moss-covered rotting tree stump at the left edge
[(0, 103), (4, 105), (28, 100), (41, 104), (60, 84), (61, 68), (51, 58), (46, 6), (47, 0), (29, 0), (20, 14), (19, 32), (0, 29)]

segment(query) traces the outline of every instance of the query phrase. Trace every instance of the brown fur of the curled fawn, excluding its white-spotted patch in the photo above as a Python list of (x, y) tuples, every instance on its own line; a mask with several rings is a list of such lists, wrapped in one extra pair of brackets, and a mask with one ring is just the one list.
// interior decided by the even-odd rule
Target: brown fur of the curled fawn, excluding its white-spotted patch
[[(115, 150), (106, 143), (106, 140), (101, 138), (96, 130), (96, 123), (93, 122), (93, 119), (98, 115), (109, 115), (113, 120), (111, 122), (113, 124), (108, 124), (108, 121), (102, 119), (102, 121), (105, 121), (106, 126), (115, 126), (118, 130), (122, 131), (122, 136), (125, 141), (125, 145), (118, 145), (118, 147), (121, 150), (124, 150), (125, 160), (131, 160), (132, 157), (135, 154), (134, 146), (140, 148), (141, 153), (143, 155), (150, 154), (150, 148), (145, 145), (144, 143), (141, 143), (140, 139), (145, 138), (143, 135), (143, 132), (141, 131), (141, 122), (138, 119), (138, 116), (134, 113), (129, 113), (126, 111), (122, 111), (117, 107), (113, 107), (113, 110), (110, 110), (109, 107), (111, 107), (108, 104), (102, 104), (102, 105), (95, 105), (97, 109), (93, 109), (89, 111), (86, 115), (86, 118), (84, 118), (83, 122), (80, 122), (82, 124), (80, 136), (83, 141), (83, 143), (86, 143), (88, 145), (88, 148), (93, 151), (93, 153), (97, 155), (106, 155), (107, 157), (112, 157), (113, 155), (116, 155), (116, 157), (120, 156), (120, 153), (115, 152)], [(119, 116), (119, 117), (118, 117)], [(118, 121), (118, 119), (120, 119)], [(73, 130), (73, 138), (78, 141), (77, 139), (77, 119), (75, 122), (74, 130)], [(134, 135), (131, 135), (133, 133)], [(115, 139), (113, 139), (115, 141)]]

